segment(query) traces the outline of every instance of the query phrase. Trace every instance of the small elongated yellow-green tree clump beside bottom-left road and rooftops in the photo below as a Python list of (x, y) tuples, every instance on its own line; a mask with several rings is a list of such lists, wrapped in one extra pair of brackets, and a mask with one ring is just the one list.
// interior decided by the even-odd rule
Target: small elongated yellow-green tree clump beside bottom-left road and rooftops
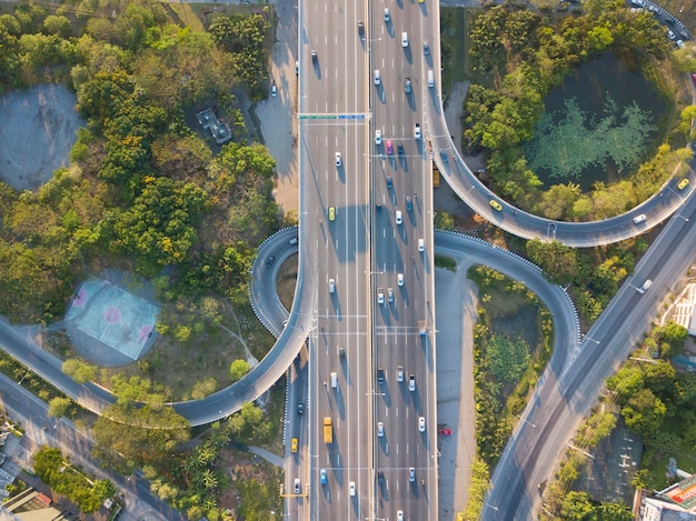
[(63, 460), (60, 450), (42, 447), (33, 454), (36, 474), (54, 492), (66, 495), (82, 512), (92, 513), (116, 494), (116, 487), (107, 480), (91, 481)]

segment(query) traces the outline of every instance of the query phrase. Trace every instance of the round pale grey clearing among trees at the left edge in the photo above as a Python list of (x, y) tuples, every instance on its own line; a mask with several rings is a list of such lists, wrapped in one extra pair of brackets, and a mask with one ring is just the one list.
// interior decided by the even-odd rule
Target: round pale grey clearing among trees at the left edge
[(41, 84), (0, 99), (0, 179), (17, 190), (36, 190), (69, 163), (83, 122), (77, 98), (62, 86)]

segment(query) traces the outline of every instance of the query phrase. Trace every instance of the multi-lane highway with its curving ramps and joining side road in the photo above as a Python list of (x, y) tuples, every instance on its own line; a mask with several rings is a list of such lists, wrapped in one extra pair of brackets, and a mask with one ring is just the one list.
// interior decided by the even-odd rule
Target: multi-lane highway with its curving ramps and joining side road
[[(265, 392), (301, 350), (287, 411), (288, 449), (298, 439), (286, 465), (290, 519), (437, 519), (434, 253), (456, 258), (471, 240), (436, 239), (430, 161), (474, 210), (523, 238), (606, 244), (676, 213), (581, 341), (573, 305), (561, 303), (563, 293), (551, 297), (561, 290), (536, 282), (547, 304), (558, 299), (549, 304), (556, 350), (496, 468), (484, 510), (484, 519), (533, 519), (537, 483), (550, 475), (604, 379), (696, 256), (694, 183), (679, 191), (669, 181), (639, 208), (606, 221), (565, 223), (525, 213), (490, 193), (451, 143), (439, 92), (437, 2), (310, 0), (299, 3), (299, 240), (294, 230), (271, 238), (252, 269), (255, 309), (279, 340), (240, 382), (175, 407), (193, 425), (229, 415)], [(647, 216), (645, 226), (636, 227), (637, 214)], [(506, 253), (474, 242), (469, 248), (481, 263), (506, 271)], [(284, 323), (268, 273), (295, 251), (297, 292)], [(272, 269), (269, 252), (278, 258)], [(506, 262), (508, 274), (530, 287), (534, 277), (543, 280), (523, 274), (520, 260)], [(654, 285), (642, 294), (636, 288), (647, 278)], [(99, 412), (110, 403), (108, 393), (62, 374), (49, 355), (24, 349), (30, 332), (3, 322), (0, 334), (3, 349), (82, 405)]]

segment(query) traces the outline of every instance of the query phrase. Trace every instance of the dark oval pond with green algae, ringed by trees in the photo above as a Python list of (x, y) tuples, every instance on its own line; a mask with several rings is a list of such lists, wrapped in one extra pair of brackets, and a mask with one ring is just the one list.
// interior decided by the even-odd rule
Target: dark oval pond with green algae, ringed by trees
[(666, 108), (657, 90), (620, 56), (605, 54), (577, 68), (545, 100), (529, 167), (544, 182), (574, 182), (584, 191), (612, 184), (645, 160)]

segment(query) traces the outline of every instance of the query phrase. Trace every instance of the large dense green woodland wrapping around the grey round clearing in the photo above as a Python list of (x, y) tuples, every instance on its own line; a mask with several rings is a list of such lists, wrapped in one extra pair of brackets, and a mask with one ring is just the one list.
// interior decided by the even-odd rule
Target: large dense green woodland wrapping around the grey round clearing
[(210, 32), (149, 0), (56, 13), (24, 2), (0, 17), (0, 89), (63, 82), (88, 122), (71, 167), (38, 192), (0, 182), (0, 313), (53, 321), (84, 270), (105, 264), (161, 273), (172, 301), (246, 294), (255, 247), (279, 226), (275, 162), (243, 142), (212, 158), (186, 114), (219, 106), (243, 141), (230, 88), (267, 77), (266, 13), (218, 16)]

